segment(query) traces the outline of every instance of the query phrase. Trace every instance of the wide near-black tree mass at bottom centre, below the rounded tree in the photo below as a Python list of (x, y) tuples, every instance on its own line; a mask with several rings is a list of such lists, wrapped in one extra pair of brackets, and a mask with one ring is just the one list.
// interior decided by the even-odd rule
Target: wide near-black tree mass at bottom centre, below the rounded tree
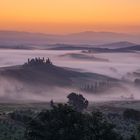
[(120, 140), (102, 113), (83, 114), (59, 104), (42, 111), (28, 124), (27, 140)]

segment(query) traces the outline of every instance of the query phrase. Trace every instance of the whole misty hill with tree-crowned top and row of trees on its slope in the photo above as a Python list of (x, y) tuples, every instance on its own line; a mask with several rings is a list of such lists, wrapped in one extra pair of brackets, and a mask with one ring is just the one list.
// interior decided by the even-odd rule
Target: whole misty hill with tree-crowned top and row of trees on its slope
[[(39, 61), (39, 62), (38, 62)], [(24, 65), (0, 69), (0, 83), (4, 96), (13, 93), (53, 92), (54, 88), (96, 93), (117, 86), (118, 80), (97, 73), (79, 72), (53, 65), (50, 60), (31, 59)], [(57, 90), (57, 92), (59, 92)], [(5, 94), (6, 93), (6, 94)], [(12, 95), (13, 96), (13, 95)], [(0, 96), (1, 99), (3, 97)]]

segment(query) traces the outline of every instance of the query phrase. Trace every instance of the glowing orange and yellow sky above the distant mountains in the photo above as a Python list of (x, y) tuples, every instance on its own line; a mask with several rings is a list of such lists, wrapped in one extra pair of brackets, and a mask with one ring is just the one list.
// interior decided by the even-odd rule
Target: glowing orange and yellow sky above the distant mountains
[(140, 0), (0, 0), (0, 30), (140, 33)]

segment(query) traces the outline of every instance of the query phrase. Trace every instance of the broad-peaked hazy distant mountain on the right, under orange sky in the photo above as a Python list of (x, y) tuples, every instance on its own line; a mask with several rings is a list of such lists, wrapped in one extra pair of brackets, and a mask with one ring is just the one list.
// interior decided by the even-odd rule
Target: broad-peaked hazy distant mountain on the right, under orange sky
[(110, 42), (123, 42), (130, 41), (135, 43), (140, 43), (139, 35), (131, 35), (125, 33), (116, 33), (116, 32), (93, 32), (93, 31), (85, 31), (80, 33), (73, 33), (67, 35), (67, 37), (77, 40), (82, 43), (87, 44), (108, 44)]

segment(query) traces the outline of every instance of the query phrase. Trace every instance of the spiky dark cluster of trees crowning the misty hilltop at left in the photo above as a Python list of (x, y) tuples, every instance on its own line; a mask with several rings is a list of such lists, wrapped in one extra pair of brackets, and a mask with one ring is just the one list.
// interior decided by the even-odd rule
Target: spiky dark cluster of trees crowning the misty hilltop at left
[(45, 64), (50, 64), (52, 65), (52, 62), (50, 61), (50, 59), (46, 59), (43, 57), (43, 58), (32, 58), (32, 59), (28, 59), (28, 62), (25, 63), (24, 65), (45, 65)]

